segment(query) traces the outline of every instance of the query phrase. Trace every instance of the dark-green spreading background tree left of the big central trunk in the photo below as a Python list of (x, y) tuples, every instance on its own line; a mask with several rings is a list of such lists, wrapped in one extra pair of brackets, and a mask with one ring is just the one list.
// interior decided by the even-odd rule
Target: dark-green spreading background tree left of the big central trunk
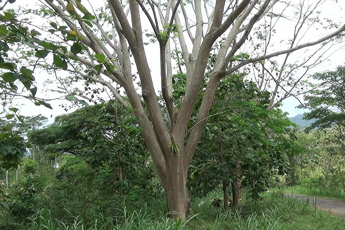
[(108, 168), (112, 176), (107, 190), (113, 192), (123, 193), (150, 165), (134, 117), (114, 101), (59, 116), (49, 127), (29, 132), (29, 142), (53, 165), (65, 153), (79, 156), (90, 167)]

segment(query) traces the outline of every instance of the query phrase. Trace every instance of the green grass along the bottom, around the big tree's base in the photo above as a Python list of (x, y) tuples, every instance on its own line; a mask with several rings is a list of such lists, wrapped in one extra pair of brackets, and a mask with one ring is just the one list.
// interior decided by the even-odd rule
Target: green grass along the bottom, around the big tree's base
[(219, 192), (210, 193), (202, 199), (195, 199), (194, 213), (186, 221), (167, 219), (165, 214), (152, 215), (146, 210), (130, 213), (124, 209), (123, 217), (117, 219), (96, 215), (88, 223), (75, 217), (70, 224), (54, 220), (49, 211), (43, 211), (31, 220), (23, 229), (73, 229), (73, 230), (109, 230), (109, 229), (237, 229), (237, 230), (298, 230), (298, 229), (345, 229), (341, 218), (315, 209), (307, 202), (282, 197), (278, 193), (263, 194), (263, 200), (255, 204), (242, 204), (237, 210), (223, 211), (211, 205), (211, 200), (220, 197)]

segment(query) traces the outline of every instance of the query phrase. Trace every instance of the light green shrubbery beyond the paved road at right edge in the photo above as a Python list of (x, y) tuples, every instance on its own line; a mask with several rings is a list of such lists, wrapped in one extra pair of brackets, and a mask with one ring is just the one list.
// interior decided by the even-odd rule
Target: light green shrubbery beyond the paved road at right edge
[(342, 164), (345, 160), (342, 142), (344, 132), (343, 126), (334, 126), (296, 134), (297, 142), (305, 147), (303, 153), (294, 156), (291, 161), (298, 175), (297, 185), (313, 191), (345, 191)]

